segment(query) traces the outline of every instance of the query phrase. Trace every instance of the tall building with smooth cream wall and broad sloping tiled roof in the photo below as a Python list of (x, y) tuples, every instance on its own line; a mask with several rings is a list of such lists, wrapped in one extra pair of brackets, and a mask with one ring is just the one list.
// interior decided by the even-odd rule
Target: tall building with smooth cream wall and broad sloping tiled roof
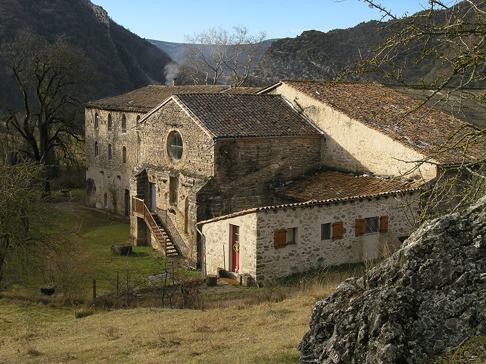
[(468, 144), (473, 125), (381, 83), (286, 80), (260, 92), (282, 95), (315, 123), (323, 163), (341, 171), (425, 182), (485, 157), (484, 142)]

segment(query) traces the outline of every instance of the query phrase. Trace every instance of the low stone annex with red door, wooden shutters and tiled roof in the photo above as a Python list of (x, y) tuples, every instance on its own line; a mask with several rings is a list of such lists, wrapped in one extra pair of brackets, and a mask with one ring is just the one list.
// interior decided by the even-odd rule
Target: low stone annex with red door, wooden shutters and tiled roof
[(219, 269), (258, 281), (395, 251), (413, 228), (407, 182), (323, 171), (289, 184), (288, 201), (219, 216), (198, 225), (208, 274)]

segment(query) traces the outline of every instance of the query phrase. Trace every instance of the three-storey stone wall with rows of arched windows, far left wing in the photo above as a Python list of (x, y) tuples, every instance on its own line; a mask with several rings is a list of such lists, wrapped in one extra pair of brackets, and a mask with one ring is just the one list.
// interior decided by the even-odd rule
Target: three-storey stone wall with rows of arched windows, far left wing
[[(95, 129), (95, 113), (99, 115), (99, 127)], [(112, 130), (108, 130), (108, 115), (112, 118)], [(126, 117), (126, 132), (121, 130), (121, 118)], [(142, 113), (86, 108), (86, 180), (87, 205), (106, 208), (125, 214), (125, 190), (130, 190), (130, 176), (137, 165), (137, 117)], [(98, 157), (95, 156), (98, 142)], [(108, 159), (108, 144), (112, 145), (113, 158)], [(126, 163), (122, 161), (122, 149), (126, 148)], [(108, 205), (104, 206), (104, 194)]]

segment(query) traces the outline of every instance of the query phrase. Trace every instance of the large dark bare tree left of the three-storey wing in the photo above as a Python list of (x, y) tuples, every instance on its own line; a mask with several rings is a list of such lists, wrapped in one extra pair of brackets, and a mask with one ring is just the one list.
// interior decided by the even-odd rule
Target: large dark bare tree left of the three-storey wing
[(44, 167), (44, 192), (49, 193), (53, 166), (79, 161), (80, 106), (90, 77), (84, 55), (63, 37), (48, 44), (22, 30), (4, 47), (3, 56), (23, 102), (21, 110), (8, 108), (7, 132), (21, 138), (18, 153)]

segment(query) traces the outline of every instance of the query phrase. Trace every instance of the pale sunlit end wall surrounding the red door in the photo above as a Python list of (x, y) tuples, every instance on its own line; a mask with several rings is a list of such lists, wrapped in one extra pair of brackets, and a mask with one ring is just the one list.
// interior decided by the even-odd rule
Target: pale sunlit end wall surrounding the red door
[(256, 214), (240, 215), (203, 225), (202, 232), (206, 237), (207, 274), (217, 274), (217, 268), (231, 270), (231, 225), (240, 227), (240, 272), (255, 277), (257, 274), (257, 250), (254, 244), (257, 240)]

